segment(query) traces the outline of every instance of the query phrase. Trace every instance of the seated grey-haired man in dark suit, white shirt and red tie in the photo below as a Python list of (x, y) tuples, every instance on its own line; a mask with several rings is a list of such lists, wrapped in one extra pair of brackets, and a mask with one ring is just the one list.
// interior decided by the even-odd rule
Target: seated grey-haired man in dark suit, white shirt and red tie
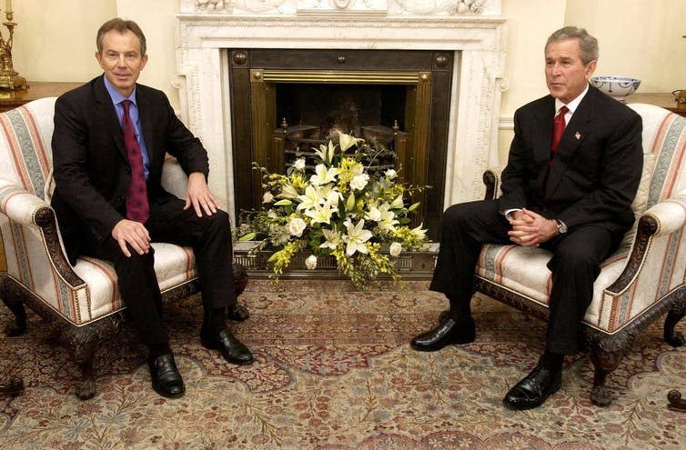
[(564, 355), (579, 351), (579, 325), (600, 263), (634, 221), (631, 202), (642, 169), (641, 117), (589, 85), (597, 58), (598, 42), (584, 29), (565, 27), (550, 35), (545, 46), (550, 95), (515, 112), (499, 199), (452, 205), (443, 215), (430, 289), (448, 297), (449, 315), (411, 342), (416, 350), (435, 351), (474, 341), (469, 302), (483, 244), (549, 249), (546, 350), (505, 396), (512, 409), (541, 405), (560, 388)]

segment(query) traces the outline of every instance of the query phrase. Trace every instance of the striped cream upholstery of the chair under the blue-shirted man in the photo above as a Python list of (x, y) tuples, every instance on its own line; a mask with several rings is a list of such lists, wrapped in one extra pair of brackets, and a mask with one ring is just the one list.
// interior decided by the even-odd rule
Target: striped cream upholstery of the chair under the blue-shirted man
[[(61, 274), (44, 231), (35, 225), (39, 210), (49, 207), (52, 189), (54, 107), (55, 97), (50, 97), (0, 114), (0, 233), (7, 275), (68, 322), (85, 325), (116, 313), (123, 305), (111, 265), (81, 258), (70, 268), (72, 276)], [(185, 183), (176, 161), (170, 160), (168, 165), (174, 175), (166, 175), (166, 183)], [(190, 248), (153, 246), (157, 281), (163, 292), (197, 277)]]

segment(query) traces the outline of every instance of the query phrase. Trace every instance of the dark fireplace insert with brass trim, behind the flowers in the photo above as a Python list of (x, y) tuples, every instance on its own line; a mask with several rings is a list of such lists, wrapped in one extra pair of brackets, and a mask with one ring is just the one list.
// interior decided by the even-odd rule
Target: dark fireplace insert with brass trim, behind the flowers
[(260, 173), (285, 173), (335, 131), (388, 148), (380, 164), (426, 186), (416, 225), (439, 228), (443, 210), (452, 54), (400, 50), (230, 49), (234, 179), (239, 211), (262, 202)]

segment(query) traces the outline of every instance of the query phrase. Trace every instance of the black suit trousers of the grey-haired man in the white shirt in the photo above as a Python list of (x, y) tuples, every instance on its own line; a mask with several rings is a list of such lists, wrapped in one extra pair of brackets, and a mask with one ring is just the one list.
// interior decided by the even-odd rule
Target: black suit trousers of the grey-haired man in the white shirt
[[(511, 227), (498, 208), (497, 201), (486, 200), (452, 205), (443, 214), (439, 257), (429, 289), (449, 298), (453, 315), (463, 311), (474, 294), (474, 270), (482, 245), (512, 244)], [(603, 227), (583, 225), (540, 245), (552, 252), (549, 352), (573, 355), (579, 351), (580, 322), (593, 298), (593, 282), (620, 239)]]

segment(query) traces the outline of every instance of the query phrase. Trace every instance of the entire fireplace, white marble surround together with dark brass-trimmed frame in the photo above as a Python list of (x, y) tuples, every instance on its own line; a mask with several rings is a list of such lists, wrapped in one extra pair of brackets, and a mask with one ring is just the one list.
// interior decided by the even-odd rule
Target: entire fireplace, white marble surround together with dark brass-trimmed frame
[[(412, 145), (401, 163), (408, 172), (405, 175), (417, 175), (412, 183), (421, 183), (424, 176), (426, 184), (434, 186), (423, 201), (430, 234), (438, 233), (436, 220), (443, 208), (483, 196), (481, 175), (490, 165), (498, 164), (497, 113), (500, 95), (508, 87), (502, 78), (506, 20), (500, 16), (500, 0), (461, 0), (459, 7), (450, 6), (451, 2), (400, 0), (179, 1), (179, 76), (175, 85), (180, 91), (181, 118), (207, 148), (209, 186), (235, 224), (240, 210), (257, 202), (255, 180), (252, 170), (246, 168), (247, 162), (274, 155), (253, 155), (254, 143), (267, 142), (271, 145), (264, 148), (273, 151), (274, 133), (282, 129), (284, 117), (287, 128), (301, 125), (300, 115), (302, 125), (319, 125), (309, 124), (305, 114), (291, 116), (283, 106), (274, 106), (268, 126), (259, 131), (240, 125), (241, 121), (254, 120), (254, 110), (272, 107), (268, 95), (255, 105), (251, 95), (246, 95), (257, 83), (256, 72), (263, 77), (259, 83), (277, 93), (275, 98), (298, 84), (308, 85), (310, 90), (313, 85), (325, 90), (347, 85), (341, 80), (326, 80), (334, 68), (352, 76), (408, 76), (409, 81), (386, 82), (389, 93), (373, 94), (372, 88), (378, 84), (368, 79), (358, 79), (352, 85), (369, 89), (370, 95), (405, 97), (404, 105), (384, 106), (379, 124), (371, 126), (381, 126), (387, 132), (395, 125), (390, 121), (397, 120), (398, 132), (411, 138), (405, 145), (410, 140), (426, 143), (423, 151), (429, 153), (421, 154), (421, 145)], [(318, 57), (308, 57), (305, 64), (301, 52), (311, 51)], [(281, 55), (280, 62), (270, 63), (274, 61), (272, 55)], [(361, 61), (359, 55), (366, 60)], [(376, 65), (360, 65), (377, 57)], [(399, 65), (401, 61), (410, 64)], [(440, 67), (442, 64), (448, 65)], [(316, 82), (302, 78), (310, 71), (318, 77)], [(283, 78), (291, 75), (298, 75), (298, 79)], [(417, 98), (424, 97), (412, 89), (422, 89), (424, 77), (430, 83), (429, 122), (418, 129), (416, 121), (413, 129), (408, 110), (418, 106)], [(439, 84), (444, 89), (440, 95), (436, 94)], [(435, 104), (437, 95), (442, 105)], [(400, 115), (404, 117), (395, 117)], [(435, 124), (442, 125), (434, 128)], [(368, 126), (366, 122), (361, 125)], [(413, 158), (410, 163), (407, 157)], [(243, 189), (250, 191), (247, 200), (238, 192)]]

